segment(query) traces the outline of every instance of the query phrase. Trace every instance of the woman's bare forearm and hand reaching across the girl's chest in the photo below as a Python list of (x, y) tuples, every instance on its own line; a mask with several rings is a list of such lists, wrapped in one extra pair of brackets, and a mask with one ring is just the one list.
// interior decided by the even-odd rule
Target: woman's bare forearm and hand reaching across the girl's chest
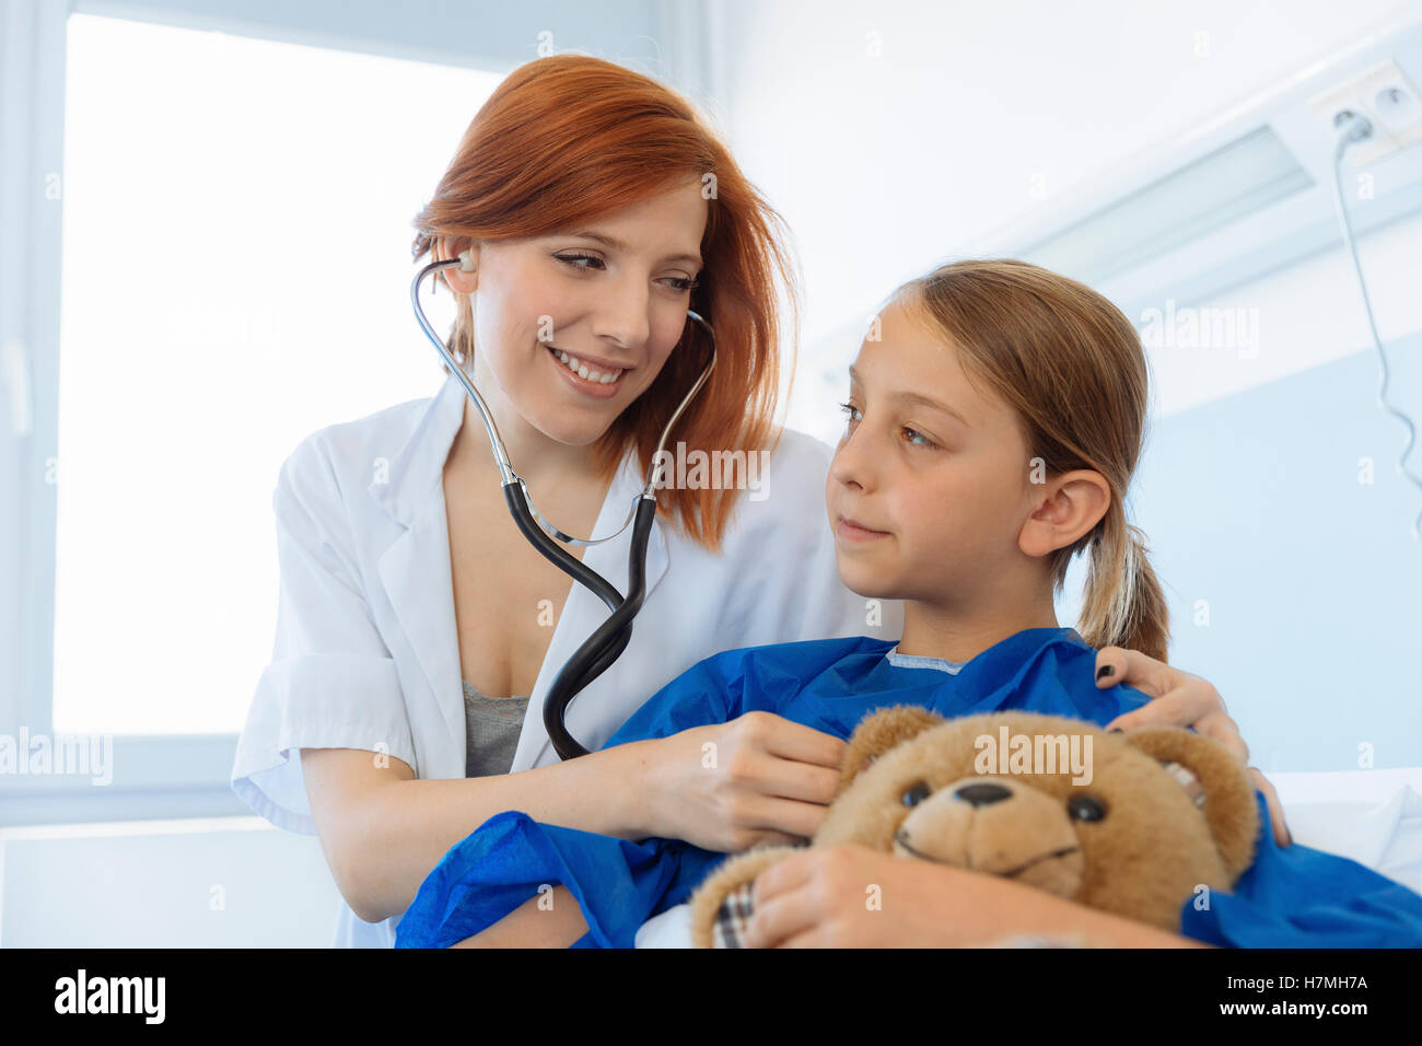
[(751, 712), (516, 774), (417, 780), (404, 760), (353, 749), (301, 749), (301, 770), (337, 888), (361, 919), (380, 922), (410, 907), (456, 842), (506, 810), (718, 852), (809, 838), (838, 790), (845, 747)]

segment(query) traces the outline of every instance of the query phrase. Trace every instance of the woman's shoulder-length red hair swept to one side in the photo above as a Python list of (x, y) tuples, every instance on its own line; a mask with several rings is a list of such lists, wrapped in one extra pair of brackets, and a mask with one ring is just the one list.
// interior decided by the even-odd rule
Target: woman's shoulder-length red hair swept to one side
[[(577, 228), (690, 178), (708, 198), (704, 268), (690, 307), (715, 330), (717, 364), (668, 435), (668, 448), (684, 441), (688, 451), (708, 455), (772, 450), (781, 434), (782, 287), (792, 346), (798, 336), (799, 296), (784, 221), (675, 91), (583, 56), (538, 58), (513, 70), (475, 114), (434, 198), (415, 216), (412, 253), (418, 262), (441, 236), (499, 241)], [(469, 360), (474, 313), (468, 295), (456, 297), (448, 349)], [(656, 381), (594, 444), (603, 481), (630, 448), (647, 472), (661, 428), (701, 374), (707, 352), (705, 334), (687, 323)], [(737, 494), (665, 488), (657, 492), (657, 511), (715, 551)]]

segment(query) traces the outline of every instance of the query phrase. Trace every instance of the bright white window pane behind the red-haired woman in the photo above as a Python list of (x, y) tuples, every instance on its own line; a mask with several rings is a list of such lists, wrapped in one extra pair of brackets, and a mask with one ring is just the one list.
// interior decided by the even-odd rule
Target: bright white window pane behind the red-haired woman
[(277, 471), (438, 390), (410, 222), (499, 78), (70, 17), (55, 733), (240, 730), (276, 626)]

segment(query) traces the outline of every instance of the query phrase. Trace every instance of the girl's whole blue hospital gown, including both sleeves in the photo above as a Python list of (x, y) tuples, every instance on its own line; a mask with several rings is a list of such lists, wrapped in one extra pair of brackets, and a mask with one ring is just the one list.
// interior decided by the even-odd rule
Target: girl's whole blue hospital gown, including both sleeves
[[(882, 639), (820, 639), (707, 657), (658, 690), (606, 747), (725, 723), (747, 712), (848, 739), (876, 709), (917, 704), (944, 717), (1022, 710), (1105, 726), (1149, 699), (1098, 689), (1096, 650), (1069, 628), (1018, 632), (958, 665), (904, 657)], [(1180, 934), (1243, 948), (1422, 945), (1422, 897), (1344, 857), (1274, 842), (1256, 791), (1254, 864), (1210, 908), (1187, 901)], [(458, 842), (421, 884), (395, 931), (397, 948), (445, 948), (489, 928), (539, 887), (563, 884), (589, 932), (574, 948), (630, 948), (638, 926), (687, 901), (727, 854), (681, 840), (640, 842), (496, 814)]]

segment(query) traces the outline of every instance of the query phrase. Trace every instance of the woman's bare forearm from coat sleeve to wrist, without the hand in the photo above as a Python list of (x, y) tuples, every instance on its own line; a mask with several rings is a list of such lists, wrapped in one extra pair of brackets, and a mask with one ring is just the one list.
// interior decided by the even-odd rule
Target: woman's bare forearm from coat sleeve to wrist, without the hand
[[(417, 780), (390, 756), (301, 749), (301, 773), (337, 888), (356, 915), (380, 922), (405, 911), (449, 848), (505, 810), (617, 838), (647, 837), (643, 756), (631, 743), (516, 774)], [(577, 902), (569, 897), (563, 908), (576, 912)]]

